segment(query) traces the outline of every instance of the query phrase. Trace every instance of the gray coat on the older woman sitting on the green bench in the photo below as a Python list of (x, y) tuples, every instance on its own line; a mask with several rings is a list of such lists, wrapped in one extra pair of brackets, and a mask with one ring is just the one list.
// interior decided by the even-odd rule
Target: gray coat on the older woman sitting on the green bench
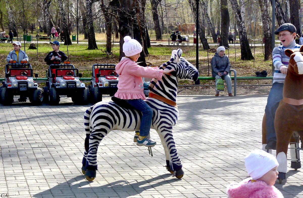
[(229, 73), (230, 63), (228, 56), (224, 54), (223, 57), (220, 57), (218, 52), (215, 53), (215, 56), (211, 58), (211, 74), (212, 77), (218, 75), (218, 72), (223, 74), (224, 71)]

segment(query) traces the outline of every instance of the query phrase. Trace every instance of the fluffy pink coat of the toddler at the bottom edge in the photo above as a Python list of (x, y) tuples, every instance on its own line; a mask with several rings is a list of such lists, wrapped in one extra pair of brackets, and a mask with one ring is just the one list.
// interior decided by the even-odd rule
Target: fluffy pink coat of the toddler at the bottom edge
[(252, 178), (246, 178), (240, 183), (227, 187), (229, 198), (284, 198), (282, 193), (274, 186), (269, 186), (264, 181), (249, 182)]

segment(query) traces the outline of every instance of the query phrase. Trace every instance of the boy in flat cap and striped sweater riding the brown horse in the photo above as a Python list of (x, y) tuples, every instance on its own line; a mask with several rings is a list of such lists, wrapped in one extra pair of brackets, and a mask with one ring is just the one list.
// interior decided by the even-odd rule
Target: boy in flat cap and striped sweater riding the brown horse
[[(301, 45), (296, 44), (296, 28), (291, 23), (282, 24), (276, 31), (282, 45), (277, 46), (272, 51), (272, 63), (275, 66), (275, 73), (273, 83), (268, 94), (267, 104), (265, 107), (265, 114), (263, 122), (266, 122), (266, 139), (267, 144), (262, 145), (262, 150), (267, 149), (276, 150), (277, 138), (275, 132), (275, 113), (279, 102), (283, 98), (283, 86), (285, 76), (288, 71), (289, 57), (285, 55), (286, 49), (298, 50)], [(266, 116), (266, 117), (265, 117)], [(265, 121), (266, 118), (266, 121)], [(262, 123), (262, 126), (265, 123)]]

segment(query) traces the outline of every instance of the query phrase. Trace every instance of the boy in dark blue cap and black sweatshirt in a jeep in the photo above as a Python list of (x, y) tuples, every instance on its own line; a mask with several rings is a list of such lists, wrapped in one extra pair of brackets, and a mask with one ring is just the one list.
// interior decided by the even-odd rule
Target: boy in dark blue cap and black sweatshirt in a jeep
[(49, 42), (52, 44), (53, 51), (49, 52), (44, 61), (46, 64), (60, 64), (67, 59), (67, 56), (59, 50), (60, 43), (58, 41)]

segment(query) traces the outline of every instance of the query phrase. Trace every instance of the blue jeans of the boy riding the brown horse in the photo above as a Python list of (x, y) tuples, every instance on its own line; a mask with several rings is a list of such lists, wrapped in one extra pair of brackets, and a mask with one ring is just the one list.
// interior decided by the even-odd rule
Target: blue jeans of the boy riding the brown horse
[(276, 131), (275, 131), (275, 114), (276, 114), (276, 110), (278, 109), (279, 103), (283, 98), (283, 86), (284, 83), (272, 84), (270, 92), (268, 94), (267, 104), (265, 107), (267, 142), (271, 140), (277, 141)]

